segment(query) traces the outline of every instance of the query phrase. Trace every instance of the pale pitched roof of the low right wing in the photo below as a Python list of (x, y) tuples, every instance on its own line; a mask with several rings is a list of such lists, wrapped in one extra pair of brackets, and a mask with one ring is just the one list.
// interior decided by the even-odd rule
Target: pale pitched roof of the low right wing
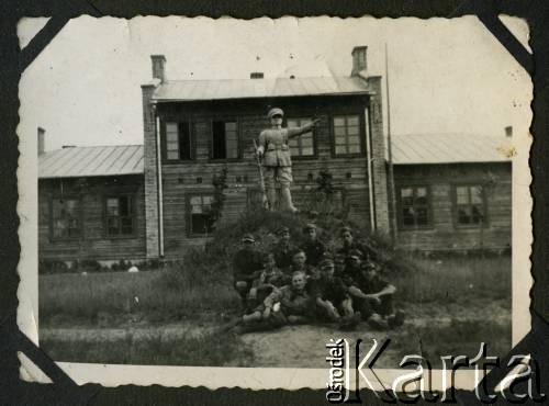
[(472, 134), (392, 135), (394, 165), (511, 161), (509, 138)]

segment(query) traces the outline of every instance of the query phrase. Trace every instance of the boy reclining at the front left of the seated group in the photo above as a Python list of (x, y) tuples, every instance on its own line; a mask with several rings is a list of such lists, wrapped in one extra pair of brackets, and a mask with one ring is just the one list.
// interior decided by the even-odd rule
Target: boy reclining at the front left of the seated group
[[(280, 303), (280, 313), (290, 324), (306, 323), (313, 315), (313, 303), (305, 290), (306, 275), (302, 271), (292, 274), (292, 284), (274, 290), (264, 302), (264, 318), (271, 316)], [(278, 313), (278, 312), (276, 312)]]

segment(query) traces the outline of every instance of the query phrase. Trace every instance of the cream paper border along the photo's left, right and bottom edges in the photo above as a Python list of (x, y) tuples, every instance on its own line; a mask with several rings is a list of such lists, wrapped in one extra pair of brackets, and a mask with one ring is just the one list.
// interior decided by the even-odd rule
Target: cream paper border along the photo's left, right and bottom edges
[[(426, 22), (428, 23), (428, 22)], [(531, 83), (530, 83), (531, 86)], [(530, 89), (531, 94), (531, 89)], [(21, 95), (20, 95), (21, 97)], [(25, 111), (20, 110), (21, 122)], [(531, 122), (531, 112), (525, 117)], [(20, 123), (20, 126), (22, 124)], [(19, 129), (18, 129), (19, 133)], [(21, 219), (19, 237), (21, 258), (18, 271), (21, 282), (18, 290), (18, 325), (34, 343), (38, 345), (38, 301), (37, 301), (37, 159), (36, 138), (19, 138), (19, 203), (18, 214)], [(529, 185), (531, 182), (528, 157), (531, 146), (530, 134), (516, 134), (513, 137), (515, 156), (513, 158), (513, 304), (512, 304), (512, 343), (515, 346), (530, 329), (530, 296), (533, 285), (530, 273), (531, 252), (531, 207)], [(338, 337), (334, 337), (338, 338)], [(343, 337), (345, 338), (345, 337)], [(474, 354), (468, 354), (474, 357)], [(24, 380), (51, 382), (25, 356), (21, 376)], [(163, 366), (163, 365), (114, 365), (57, 362), (57, 364), (77, 383), (99, 383), (103, 386), (124, 384), (164, 386), (206, 386), (208, 388), (242, 387), (250, 390), (285, 388), (298, 390), (326, 388), (328, 368), (326, 369), (285, 369), (285, 368), (219, 368), (219, 366)], [(327, 366), (327, 365), (326, 365)], [(381, 381), (390, 385), (402, 370), (377, 370)], [(436, 376), (436, 375), (435, 375)], [(354, 382), (354, 380), (351, 380)], [(438, 382), (438, 383), (437, 383)], [(457, 388), (472, 390), (472, 371), (458, 371), (455, 385)], [(437, 390), (441, 382), (435, 380)]]

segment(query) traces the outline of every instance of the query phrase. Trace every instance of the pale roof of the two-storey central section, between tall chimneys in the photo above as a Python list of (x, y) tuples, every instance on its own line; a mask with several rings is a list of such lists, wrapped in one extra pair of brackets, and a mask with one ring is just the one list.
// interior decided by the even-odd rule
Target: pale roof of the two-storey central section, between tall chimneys
[(371, 93), (358, 77), (171, 80), (155, 89), (154, 100), (192, 101)]

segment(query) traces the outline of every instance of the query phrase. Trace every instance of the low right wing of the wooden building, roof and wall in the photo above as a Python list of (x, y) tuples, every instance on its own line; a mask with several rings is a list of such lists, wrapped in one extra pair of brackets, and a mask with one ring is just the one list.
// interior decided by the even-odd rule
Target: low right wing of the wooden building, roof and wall
[(511, 249), (509, 138), (401, 135), (392, 145), (399, 247)]

